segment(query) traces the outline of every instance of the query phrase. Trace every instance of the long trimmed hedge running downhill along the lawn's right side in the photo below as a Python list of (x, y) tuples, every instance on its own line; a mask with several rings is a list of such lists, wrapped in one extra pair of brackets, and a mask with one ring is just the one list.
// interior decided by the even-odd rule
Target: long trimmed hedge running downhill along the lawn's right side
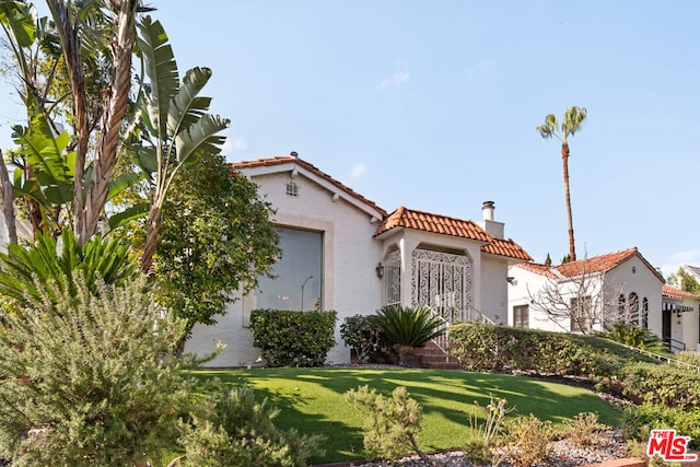
[(700, 374), (607, 339), (464, 323), (451, 327), (450, 340), (466, 370), (583, 376), (637, 404), (700, 409)]

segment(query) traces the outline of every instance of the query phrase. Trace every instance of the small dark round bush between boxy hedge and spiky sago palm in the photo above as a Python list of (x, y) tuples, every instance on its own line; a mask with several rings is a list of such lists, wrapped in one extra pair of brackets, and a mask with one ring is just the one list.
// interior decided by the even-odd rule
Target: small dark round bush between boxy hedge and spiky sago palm
[(340, 337), (351, 348), (353, 363), (368, 363), (386, 348), (386, 336), (372, 315), (353, 315), (340, 325)]

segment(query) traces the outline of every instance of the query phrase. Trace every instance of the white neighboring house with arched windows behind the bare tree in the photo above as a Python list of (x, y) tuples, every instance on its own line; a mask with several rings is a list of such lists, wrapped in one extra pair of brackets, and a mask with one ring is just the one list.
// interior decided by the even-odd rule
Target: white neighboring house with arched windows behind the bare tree
[(509, 324), (588, 332), (623, 320), (663, 336), (664, 282), (637, 248), (556, 267), (514, 265), (509, 270)]

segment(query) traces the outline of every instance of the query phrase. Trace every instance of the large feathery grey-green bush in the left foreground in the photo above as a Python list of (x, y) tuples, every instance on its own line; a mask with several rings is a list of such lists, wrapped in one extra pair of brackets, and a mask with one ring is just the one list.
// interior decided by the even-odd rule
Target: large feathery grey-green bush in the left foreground
[(143, 281), (95, 296), (82, 276), (35, 280), (0, 326), (0, 446), (13, 466), (135, 465), (174, 446), (189, 385), (163, 355), (184, 324), (161, 317)]

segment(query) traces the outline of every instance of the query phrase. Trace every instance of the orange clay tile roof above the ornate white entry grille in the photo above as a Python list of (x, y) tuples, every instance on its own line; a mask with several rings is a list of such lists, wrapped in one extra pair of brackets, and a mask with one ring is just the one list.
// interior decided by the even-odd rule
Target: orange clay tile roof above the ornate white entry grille
[(532, 261), (532, 257), (512, 240), (494, 238), (472, 221), (432, 214), (399, 207), (392, 212), (377, 227), (374, 236), (378, 236), (392, 229), (405, 227), (422, 232), (432, 232), (460, 238), (486, 242), (481, 250), (492, 255)]

